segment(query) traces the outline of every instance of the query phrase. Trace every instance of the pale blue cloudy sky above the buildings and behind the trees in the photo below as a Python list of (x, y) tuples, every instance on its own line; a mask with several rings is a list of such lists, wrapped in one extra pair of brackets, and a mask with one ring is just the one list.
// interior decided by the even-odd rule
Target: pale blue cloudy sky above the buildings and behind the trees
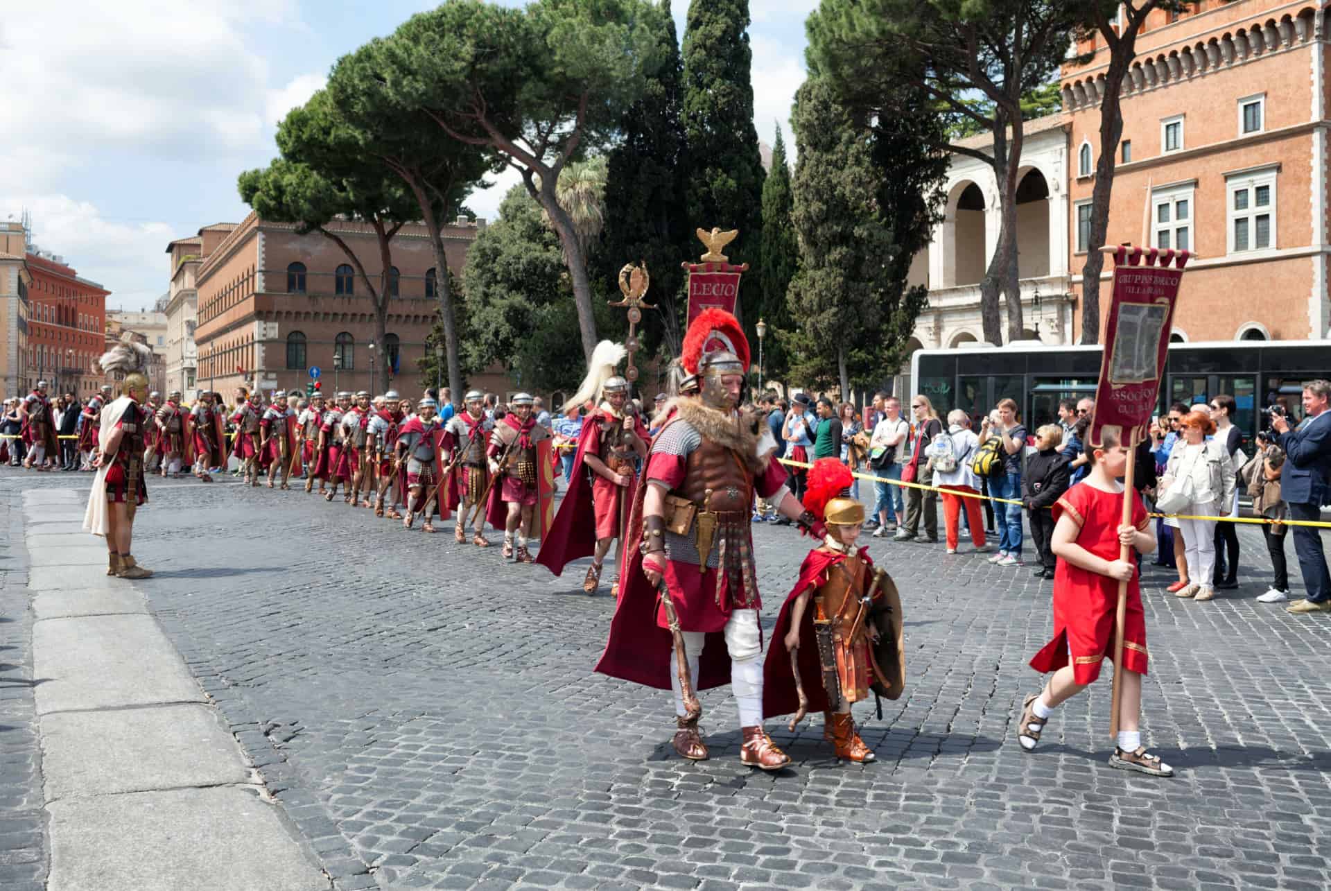
[[(522, 0), (496, 0), (522, 5)], [(707, 0), (695, 0), (707, 3)], [(266, 165), (277, 123), (339, 56), (429, 0), (61, 0), (0, 17), (0, 218), (145, 309), (169, 285), (166, 244), (248, 213), (236, 177)], [(817, 0), (749, 0), (753, 117), (771, 144), (804, 81)], [(688, 0), (673, 0), (683, 37)], [(494, 218), (514, 174), (467, 201)]]

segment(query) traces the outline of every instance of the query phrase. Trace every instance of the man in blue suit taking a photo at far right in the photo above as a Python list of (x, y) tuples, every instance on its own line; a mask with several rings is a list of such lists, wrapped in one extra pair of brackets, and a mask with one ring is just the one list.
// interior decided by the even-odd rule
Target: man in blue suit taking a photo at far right
[[(1291, 430), (1283, 416), (1271, 420), (1280, 434), (1287, 461), (1280, 477), (1280, 497), (1290, 506), (1290, 519), (1322, 519), (1322, 505), (1331, 501), (1331, 381), (1311, 381), (1303, 388), (1303, 422)], [(1299, 555), (1307, 599), (1295, 601), (1290, 613), (1331, 613), (1331, 575), (1322, 551), (1322, 534), (1311, 526), (1294, 527), (1294, 551)]]

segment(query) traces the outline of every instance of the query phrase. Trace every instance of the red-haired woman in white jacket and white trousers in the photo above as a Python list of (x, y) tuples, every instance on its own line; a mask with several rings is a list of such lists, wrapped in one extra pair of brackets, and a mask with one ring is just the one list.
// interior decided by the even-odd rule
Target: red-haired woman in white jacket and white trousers
[[(1170, 453), (1161, 479), (1161, 491), (1191, 479), (1193, 501), (1179, 510), (1182, 515), (1222, 517), (1234, 501), (1234, 474), (1227, 473), (1230, 453), (1218, 440), (1207, 440), (1215, 433), (1215, 422), (1205, 412), (1193, 410), (1179, 424), (1183, 441)], [(1211, 583), (1215, 571), (1215, 521), (1179, 519), (1187, 555), (1187, 577), (1191, 583), (1175, 597), (1195, 597), (1209, 601), (1215, 597)]]

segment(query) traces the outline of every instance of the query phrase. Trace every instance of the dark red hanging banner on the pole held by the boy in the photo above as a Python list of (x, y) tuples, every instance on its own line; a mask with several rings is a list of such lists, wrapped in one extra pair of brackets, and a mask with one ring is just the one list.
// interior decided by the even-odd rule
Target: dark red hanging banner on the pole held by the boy
[(1091, 444), (1101, 444), (1101, 430), (1107, 426), (1121, 429), (1125, 446), (1146, 438), (1165, 377), (1174, 305), (1187, 258), (1186, 250), (1155, 248), (1119, 248), (1114, 254), (1114, 296), (1105, 318)]

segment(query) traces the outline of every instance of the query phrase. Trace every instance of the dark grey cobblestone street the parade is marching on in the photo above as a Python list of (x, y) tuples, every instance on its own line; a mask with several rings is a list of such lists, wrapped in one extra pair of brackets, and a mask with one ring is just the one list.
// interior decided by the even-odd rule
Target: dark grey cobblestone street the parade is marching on
[[(88, 485), (0, 469), (0, 509)], [(1236, 593), (1181, 601), (1147, 569), (1143, 742), (1175, 779), (1107, 766), (1107, 666), (1034, 754), (1017, 746), (1050, 582), (870, 538), (908, 651), (905, 695), (881, 721), (856, 710), (878, 762), (837, 763), (819, 715), (793, 734), (769, 719), (793, 758), (772, 775), (740, 766), (728, 689), (704, 694), (712, 759), (689, 763), (667, 694), (592, 674), (614, 601), (582, 594), (586, 561), (552, 578), (454, 543), (451, 521), (407, 533), (230, 478), (149, 487), (134, 553), (157, 575), (136, 586), (337, 888), (1331, 883), (1331, 619), (1254, 601), (1270, 562), (1250, 527)], [(807, 545), (765, 525), (755, 542), (771, 627)], [(3, 569), (9, 635), (25, 591)]]

